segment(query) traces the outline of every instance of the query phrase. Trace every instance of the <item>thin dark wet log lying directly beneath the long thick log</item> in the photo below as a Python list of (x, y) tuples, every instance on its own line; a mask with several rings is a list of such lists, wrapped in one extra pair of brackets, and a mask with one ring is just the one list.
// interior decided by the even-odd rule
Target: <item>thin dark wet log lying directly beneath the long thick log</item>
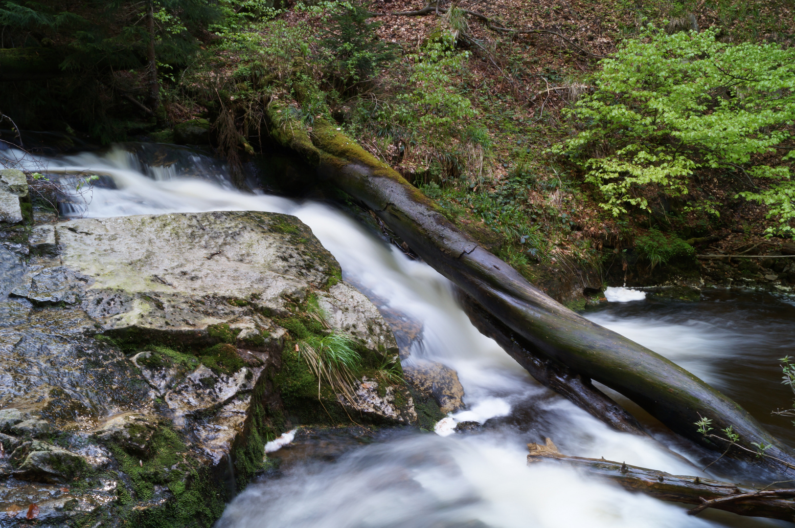
[(497, 344), (522, 365), (522, 368), (538, 383), (556, 391), (615, 430), (646, 435), (638, 420), (594, 387), (591, 380), (544, 356), (535, 346), (483, 310), (483, 306), (463, 291), (459, 295), (459, 302), (475, 328), (483, 335), (497, 341)]

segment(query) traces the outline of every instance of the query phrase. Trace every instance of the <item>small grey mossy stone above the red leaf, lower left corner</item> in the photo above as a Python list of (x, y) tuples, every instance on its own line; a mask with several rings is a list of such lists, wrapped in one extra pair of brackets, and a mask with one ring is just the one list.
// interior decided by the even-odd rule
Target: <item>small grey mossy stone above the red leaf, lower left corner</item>
[(18, 464), (14, 470), (17, 479), (47, 484), (71, 482), (88, 465), (80, 455), (39, 440), (14, 449), (11, 461)]

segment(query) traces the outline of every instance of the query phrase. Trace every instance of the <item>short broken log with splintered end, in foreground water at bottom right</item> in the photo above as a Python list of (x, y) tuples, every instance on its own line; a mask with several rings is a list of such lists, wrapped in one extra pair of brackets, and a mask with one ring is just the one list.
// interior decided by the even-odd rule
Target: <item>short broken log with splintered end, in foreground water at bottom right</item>
[(530, 451), (528, 464), (565, 464), (590, 476), (611, 480), (628, 491), (641, 491), (677, 503), (698, 504), (688, 511), (690, 515), (715, 508), (738, 515), (795, 521), (795, 489), (753, 488), (700, 476), (672, 475), (622, 462), (568, 457), (558, 452), (549, 438), (546, 445), (528, 444), (527, 447)]

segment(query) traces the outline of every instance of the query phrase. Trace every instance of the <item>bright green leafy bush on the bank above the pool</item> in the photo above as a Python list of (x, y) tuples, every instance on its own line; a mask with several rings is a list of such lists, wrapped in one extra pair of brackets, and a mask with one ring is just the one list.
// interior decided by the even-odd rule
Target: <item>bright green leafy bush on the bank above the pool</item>
[[(725, 44), (715, 30), (668, 35), (650, 27), (602, 61), (595, 91), (568, 110), (583, 129), (553, 152), (586, 171), (618, 216), (648, 210), (657, 192), (687, 201), (697, 172), (772, 178), (769, 191), (741, 193), (770, 206), (790, 231), (793, 151), (781, 150), (795, 121), (795, 50)], [(775, 153), (774, 156), (770, 156)], [(781, 157), (783, 155), (783, 157)], [(714, 204), (688, 204), (716, 213)]]

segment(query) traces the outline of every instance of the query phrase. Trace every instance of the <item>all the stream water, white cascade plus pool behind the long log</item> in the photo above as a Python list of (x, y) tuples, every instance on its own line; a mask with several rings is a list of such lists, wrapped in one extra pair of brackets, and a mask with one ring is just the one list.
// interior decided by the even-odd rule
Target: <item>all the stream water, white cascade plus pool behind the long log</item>
[[(227, 507), (219, 528), (778, 526), (723, 512), (692, 517), (684, 507), (622, 491), (570, 468), (527, 466), (526, 443), (545, 437), (563, 453), (679, 474), (702, 474), (691, 461), (703, 453), (665, 432), (656, 439), (617, 433), (541, 387), (471, 326), (447, 279), (340, 210), (236, 191), (212, 160), (187, 151), (178, 157), (165, 166), (145, 165), (115, 148), (103, 155), (21, 163), (104, 175), (90, 202), (68, 209), (72, 215), (207, 210), (296, 215), (339, 260), (345, 279), (382, 308), (421, 322), (421, 339), (411, 345), (407, 361), (425, 358), (456, 369), (467, 408), (452, 418), (486, 423), (479, 434), (387, 434), (333, 462), (292, 464), (277, 477), (250, 484)], [(770, 409), (789, 405), (776, 358), (795, 340), (792, 305), (769, 295), (716, 292), (701, 303), (609, 303), (588, 317), (715, 383), (793, 440), (786, 420), (769, 417)]]

